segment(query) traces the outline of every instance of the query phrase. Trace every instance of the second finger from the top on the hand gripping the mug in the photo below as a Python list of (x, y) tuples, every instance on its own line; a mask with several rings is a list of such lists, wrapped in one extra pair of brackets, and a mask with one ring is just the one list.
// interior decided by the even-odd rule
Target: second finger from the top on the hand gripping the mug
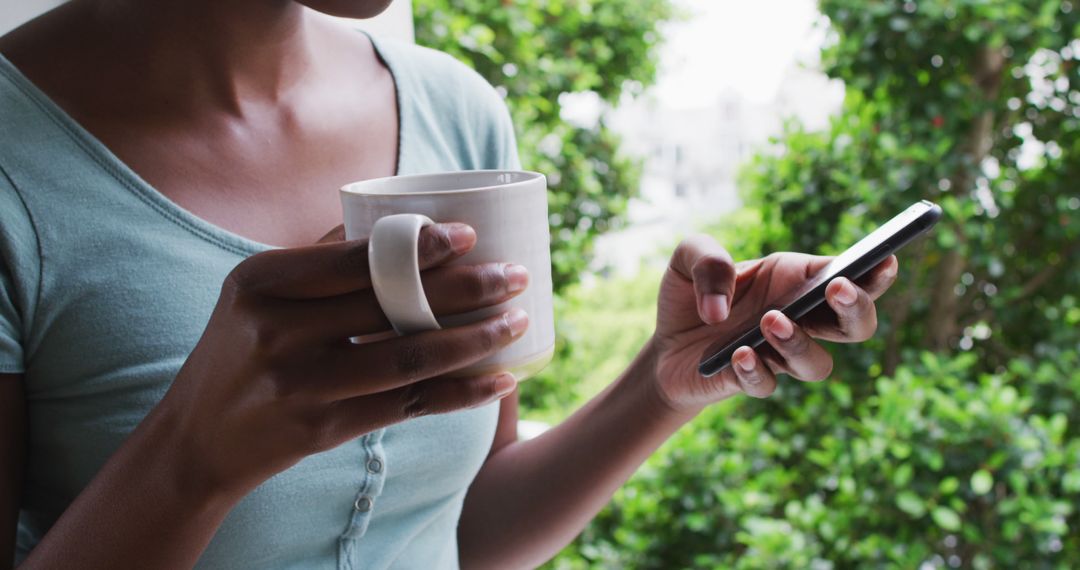
[[(528, 285), (528, 271), (512, 263), (435, 268), (421, 274), (432, 312), (453, 315), (509, 301)], [(274, 320), (305, 338), (342, 341), (390, 330), (390, 321), (372, 290), (323, 299), (276, 303)]]

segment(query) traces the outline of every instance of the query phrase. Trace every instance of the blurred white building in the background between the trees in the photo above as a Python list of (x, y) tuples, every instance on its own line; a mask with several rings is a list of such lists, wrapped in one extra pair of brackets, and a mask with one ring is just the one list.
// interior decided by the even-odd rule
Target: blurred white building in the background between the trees
[(739, 207), (740, 168), (780, 134), (786, 118), (823, 127), (842, 98), (840, 82), (791, 65), (769, 103), (729, 90), (702, 108), (646, 95), (615, 109), (610, 125), (623, 135), (625, 151), (644, 159), (644, 171), (627, 226), (597, 241), (594, 269), (633, 274), (643, 262), (664, 262), (679, 239)]

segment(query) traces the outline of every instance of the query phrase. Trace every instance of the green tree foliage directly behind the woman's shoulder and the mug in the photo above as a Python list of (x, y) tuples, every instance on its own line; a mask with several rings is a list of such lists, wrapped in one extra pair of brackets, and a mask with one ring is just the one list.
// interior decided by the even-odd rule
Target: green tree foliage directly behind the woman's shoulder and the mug
[(616, 227), (639, 168), (605, 124), (561, 114), (567, 97), (606, 104), (656, 76), (657, 27), (670, 0), (414, 0), (417, 42), (457, 56), (507, 96), (524, 167), (548, 176), (555, 288), (585, 269), (593, 239)]

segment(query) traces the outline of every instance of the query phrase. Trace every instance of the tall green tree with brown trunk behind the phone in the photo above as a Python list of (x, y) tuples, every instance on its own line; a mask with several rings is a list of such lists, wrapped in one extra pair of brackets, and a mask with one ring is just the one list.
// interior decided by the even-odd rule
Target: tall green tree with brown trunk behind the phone
[(934, 200), (945, 222), (885, 306), (886, 371), (904, 350), (974, 350), (993, 368), (1061, 345), (1080, 285), (1080, 14), (1062, 0), (821, 8), (825, 70), (848, 97), (828, 132), (793, 126), (747, 171), (777, 228), (766, 246), (835, 252)]

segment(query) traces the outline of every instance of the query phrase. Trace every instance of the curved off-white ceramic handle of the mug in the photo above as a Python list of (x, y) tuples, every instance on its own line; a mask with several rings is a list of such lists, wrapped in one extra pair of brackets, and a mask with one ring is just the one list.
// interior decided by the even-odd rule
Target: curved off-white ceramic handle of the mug
[(394, 214), (376, 220), (367, 242), (372, 288), (399, 335), (442, 328), (420, 281), (417, 241), (435, 222), (420, 214)]

